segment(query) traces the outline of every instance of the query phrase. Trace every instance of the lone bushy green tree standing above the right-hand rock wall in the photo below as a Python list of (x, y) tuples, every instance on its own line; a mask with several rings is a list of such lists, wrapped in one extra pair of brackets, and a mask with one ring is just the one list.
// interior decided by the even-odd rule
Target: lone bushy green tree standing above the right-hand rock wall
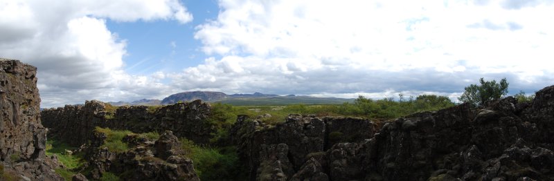
[(481, 77), (479, 82), (481, 86), (471, 84), (465, 87), (465, 92), (458, 100), (460, 102), (470, 102), (475, 106), (479, 106), (486, 101), (500, 99), (508, 94), (508, 82), (506, 78), (501, 79), (500, 83), (497, 83), (495, 80), (485, 82)]

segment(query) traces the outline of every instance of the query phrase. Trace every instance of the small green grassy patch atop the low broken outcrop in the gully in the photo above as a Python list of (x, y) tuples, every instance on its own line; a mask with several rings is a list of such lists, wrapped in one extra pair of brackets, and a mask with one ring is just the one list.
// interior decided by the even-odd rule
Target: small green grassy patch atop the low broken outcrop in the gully
[(127, 143), (123, 142), (123, 137), (125, 137), (127, 134), (131, 134), (131, 131), (116, 131), (111, 130), (110, 128), (100, 128), (96, 126), (96, 131), (100, 133), (105, 133), (107, 135), (106, 140), (104, 141), (104, 144), (100, 147), (107, 147), (108, 151), (114, 152), (114, 153), (122, 153), (129, 149), (129, 146)]

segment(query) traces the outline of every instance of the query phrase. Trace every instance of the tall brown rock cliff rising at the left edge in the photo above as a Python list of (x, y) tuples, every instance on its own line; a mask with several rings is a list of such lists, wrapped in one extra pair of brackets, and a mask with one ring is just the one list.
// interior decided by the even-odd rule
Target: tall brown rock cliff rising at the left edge
[(63, 180), (45, 157), (36, 73), (28, 64), (0, 59), (0, 166), (15, 179)]

